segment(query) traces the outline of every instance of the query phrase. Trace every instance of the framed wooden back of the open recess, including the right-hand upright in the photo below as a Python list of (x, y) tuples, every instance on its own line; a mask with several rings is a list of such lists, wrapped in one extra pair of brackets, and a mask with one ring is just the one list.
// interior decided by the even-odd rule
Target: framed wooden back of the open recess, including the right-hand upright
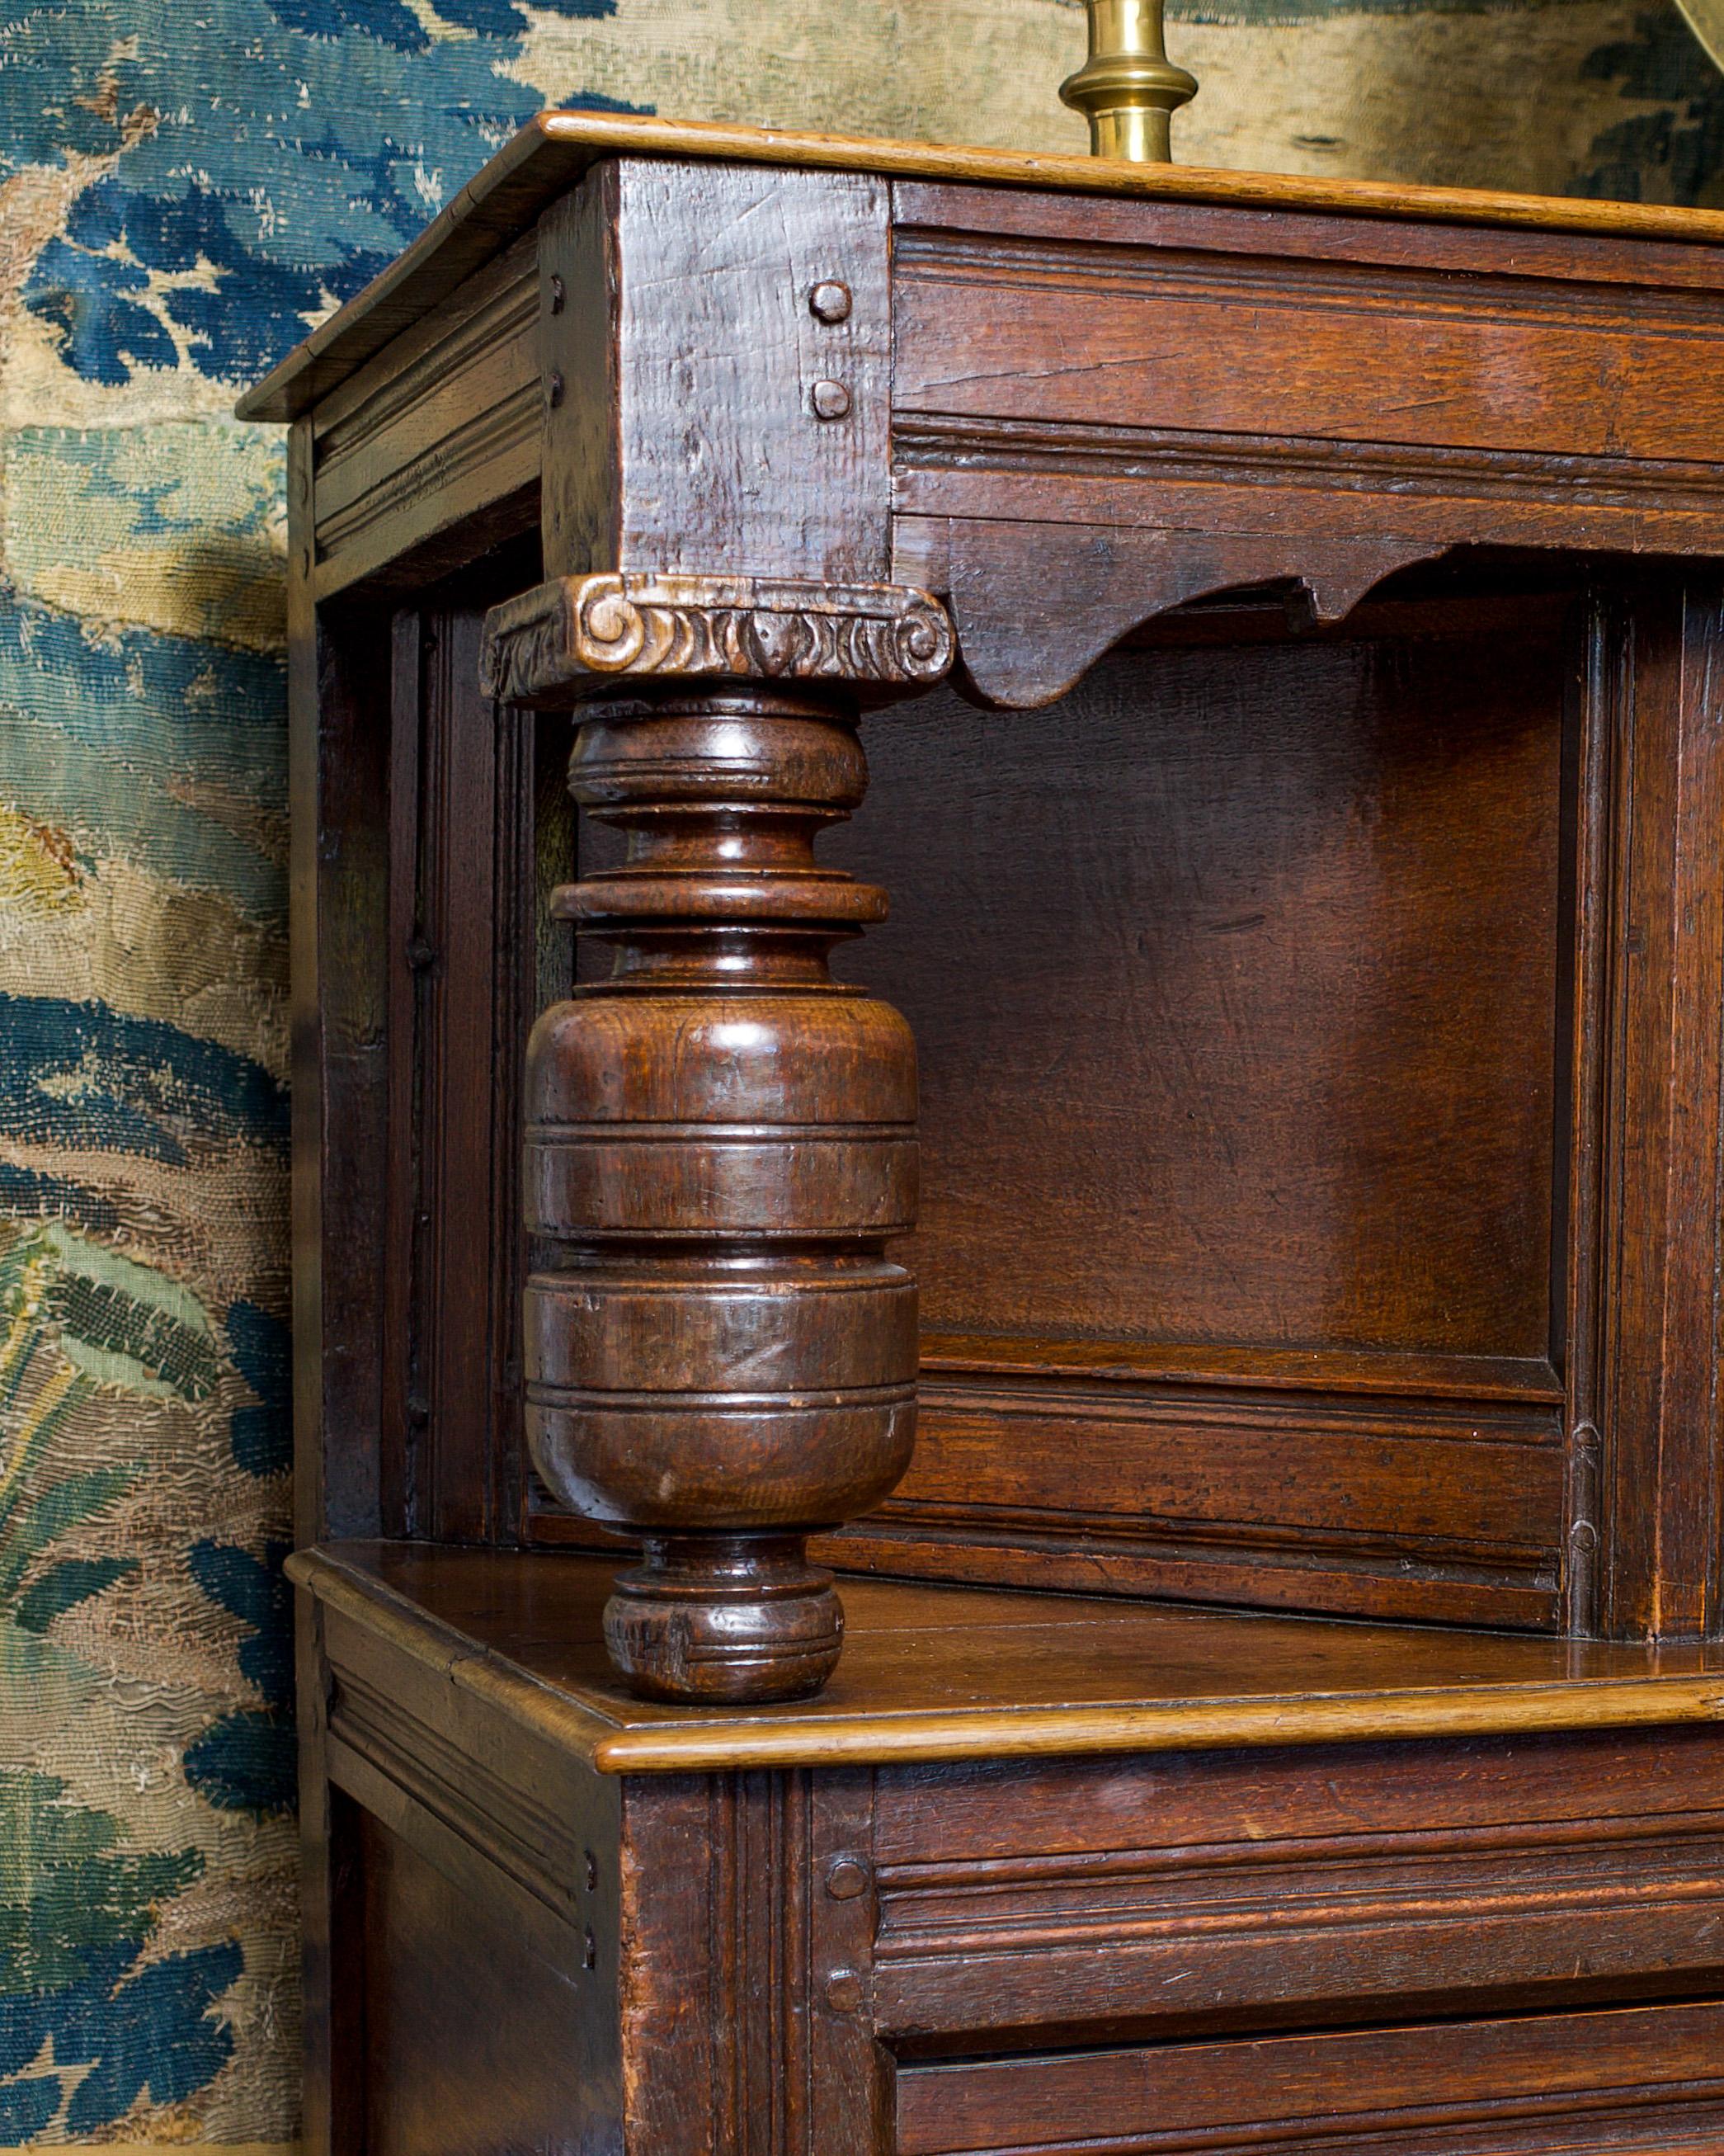
[(922, 1406), (828, 1563), (1715, 1630), (1720, 614), (1517, 573), (871, 724)]

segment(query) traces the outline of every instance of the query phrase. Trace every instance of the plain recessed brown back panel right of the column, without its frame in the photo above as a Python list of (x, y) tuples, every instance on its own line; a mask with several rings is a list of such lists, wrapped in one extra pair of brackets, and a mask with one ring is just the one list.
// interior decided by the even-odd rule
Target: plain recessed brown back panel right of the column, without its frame
[(1562, 662), (1121, 653), (868, 731), (929, 1332), (1549, 1352)]

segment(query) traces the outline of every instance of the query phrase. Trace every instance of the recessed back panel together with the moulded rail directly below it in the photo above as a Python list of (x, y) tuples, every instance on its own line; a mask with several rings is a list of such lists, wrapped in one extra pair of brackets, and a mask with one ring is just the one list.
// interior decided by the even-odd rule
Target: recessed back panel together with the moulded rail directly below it
[(1554, 1621), (1565, 606), (1384, 619), (873, 722), (924, 1391), (849, 1561)]

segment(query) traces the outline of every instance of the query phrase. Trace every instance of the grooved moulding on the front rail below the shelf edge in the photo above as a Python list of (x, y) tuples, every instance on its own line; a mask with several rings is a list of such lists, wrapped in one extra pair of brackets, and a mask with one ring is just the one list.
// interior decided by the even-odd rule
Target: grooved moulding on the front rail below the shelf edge
[[(875, 2012), (890, 2037), (1261, 2005), (1392, 2012), (1720, 1966), (1724, 1813), (1334, 1833), (972, 1863), (886, 1863)], [(1575, 1951), (1575, 1940), (1584, 1949)]]

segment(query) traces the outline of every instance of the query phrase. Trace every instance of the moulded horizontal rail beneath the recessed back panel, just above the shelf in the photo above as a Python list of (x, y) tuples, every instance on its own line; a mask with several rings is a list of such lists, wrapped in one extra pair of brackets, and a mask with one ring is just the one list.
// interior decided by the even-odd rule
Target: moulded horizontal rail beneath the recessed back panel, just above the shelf
[[(957, 1345), (924, 1341), (909, 1473), (819, 1546), (825, 1563), (983, 1578), (1004, 1557), (1043, 1587), (1558, 1621), (1565, 1436), (1547, 1363), (1246, 1348), (1228, 1371), (1226, 1350), (1084, 1343), (1118, 1363), (1080, 1373), (1060, 1369), (1060, 1343), (965, 1341), (970, 1367)], [(1185, 1373), (1170, 1367), (1183, 1358)], [(998, 1494), (981, 1503), (985, 1477)], [(1412, 1485), (1429, 1492), (1424, 1520), (1407, 1516)]]

